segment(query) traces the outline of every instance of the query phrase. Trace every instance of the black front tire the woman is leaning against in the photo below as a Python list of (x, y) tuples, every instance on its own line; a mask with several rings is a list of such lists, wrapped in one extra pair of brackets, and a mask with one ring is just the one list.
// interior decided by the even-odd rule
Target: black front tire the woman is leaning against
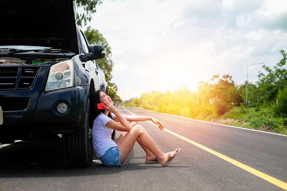
[[(87, 111), (90, 101), (88, 99)], [(86, 114), (85, 126), (72, 133), (63, 134), (66, 163), (69, 167), (89, 167), (93, 160), (92, 134), (89, 128), (89, 112)]]

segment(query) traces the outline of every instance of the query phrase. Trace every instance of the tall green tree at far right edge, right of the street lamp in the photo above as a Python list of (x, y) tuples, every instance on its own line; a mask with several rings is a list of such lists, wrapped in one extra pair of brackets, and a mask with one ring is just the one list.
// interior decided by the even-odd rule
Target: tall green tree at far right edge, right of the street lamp
[(268, 74), (265, 75), (260, 72), (258, 75), (259, 81), (256, 82), (261, 91), (262, 101), (267, 104), (275, 103), (278, 91), (283, 90), (287, 85), (286, 53), (284, 50), (281, 50), (280, 53), (283, 57), (280, 62), (273, 67), (273, 70), (263, 65), (262, 68)]

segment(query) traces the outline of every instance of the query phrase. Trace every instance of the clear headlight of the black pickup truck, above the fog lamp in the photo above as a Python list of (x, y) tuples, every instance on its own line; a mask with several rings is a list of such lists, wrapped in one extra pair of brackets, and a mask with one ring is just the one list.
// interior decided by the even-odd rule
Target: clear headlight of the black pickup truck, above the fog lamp
[(46, 91), (72, 87), (74, 85), (74, 61), (59, 62), (50, 68)]

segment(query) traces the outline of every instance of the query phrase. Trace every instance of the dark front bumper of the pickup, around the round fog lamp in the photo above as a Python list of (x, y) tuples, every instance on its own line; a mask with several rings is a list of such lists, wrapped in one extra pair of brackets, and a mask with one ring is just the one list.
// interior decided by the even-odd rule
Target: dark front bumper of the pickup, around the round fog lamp
[[(85, 125), (88, 94), (89, 86), (77, 86), (43, 92), (38, 101), (32, 100), (31, 96), (25, 110), (3, 111), (3, 124), (0, 129), (50, 129), (54, 133), (71, 132)], [(56, 105), (60, 101), (69, 106), (64, 114), (56, 111)]]

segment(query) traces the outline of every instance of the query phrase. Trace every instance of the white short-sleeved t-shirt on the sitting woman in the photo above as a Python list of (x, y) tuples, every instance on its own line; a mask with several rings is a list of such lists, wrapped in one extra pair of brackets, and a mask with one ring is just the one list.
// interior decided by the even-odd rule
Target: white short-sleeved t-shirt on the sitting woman
[[(114, 113), (111, 113), (111, 116), (114, 119)], [(97, 158), (102, 157), (105, 151), (107, 151), (109, 148), (117, 146), (117, 144), (111, 139), (111, 134), (113, 133), (114, 129), (105, 126), (110, 120), (112, 119), (103, 113), (99, 114), (94, 120), (92, 128), (92, 140)]]

